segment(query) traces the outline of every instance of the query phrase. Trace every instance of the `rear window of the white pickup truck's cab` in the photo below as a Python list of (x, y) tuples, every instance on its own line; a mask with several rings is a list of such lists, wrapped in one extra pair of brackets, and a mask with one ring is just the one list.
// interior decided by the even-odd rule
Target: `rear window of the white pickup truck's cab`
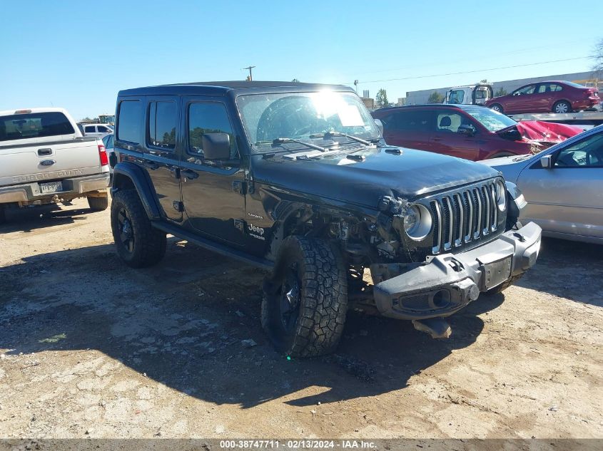
[(0, 117), (0, 141), (71, 135), (73, 126), (59, 111)]

